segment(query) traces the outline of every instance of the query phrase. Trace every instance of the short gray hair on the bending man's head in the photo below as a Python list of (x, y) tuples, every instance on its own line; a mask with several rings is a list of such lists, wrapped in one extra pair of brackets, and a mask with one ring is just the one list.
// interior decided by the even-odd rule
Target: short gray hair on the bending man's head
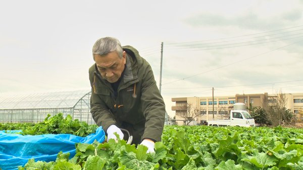
[(120, 41), (114, 37), (104, 37), (98, 39), (93, 47), (92, 47), (92, 56), (94, 59), (95, 54), (99, 54), (101, 56), (107, 55), (112, 51), (117, 51), (120, 58), (123, 55), (123, 49)]

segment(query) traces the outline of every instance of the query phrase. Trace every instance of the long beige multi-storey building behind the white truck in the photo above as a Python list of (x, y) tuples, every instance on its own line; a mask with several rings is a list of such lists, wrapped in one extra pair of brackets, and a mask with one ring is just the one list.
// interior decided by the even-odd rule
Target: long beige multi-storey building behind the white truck
[[(303, 93), (284, 93), (286, 108), (297, 114), (303, 110)], [(192, 122), (192, 125), (204, 123), (211, 119), (227, 119), (233, 104), (237, 102), (245, 103), (245, 107), (262, 107), (275, 102), (277, 95), (264, 94), (236, 94), (235, 96), (214, 96), (214, 97), (178, 97), (172, 98), (175, 105), (172, 110), (176, 111), (176, 124), (185, 125), (184, 118), (180, 117), (180, 112), (184, 112), (184, 105), (191, 104), (192, 108), (200, 110), (200, 115)]]

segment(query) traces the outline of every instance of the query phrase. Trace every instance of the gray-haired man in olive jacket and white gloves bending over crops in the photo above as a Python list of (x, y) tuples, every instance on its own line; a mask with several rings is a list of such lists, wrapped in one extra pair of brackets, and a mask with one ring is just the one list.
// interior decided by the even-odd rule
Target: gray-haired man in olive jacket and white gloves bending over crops
[(92, 48), (95, 64), (89, 68), (91, 114), (98, 126), (115, 140), (123, 139), (120, 128), (133, 136), (133, 144), (154, 152), (161, 140), (165, 104), (150, 65), (132, 46), (118, 39), (98, 39)]

